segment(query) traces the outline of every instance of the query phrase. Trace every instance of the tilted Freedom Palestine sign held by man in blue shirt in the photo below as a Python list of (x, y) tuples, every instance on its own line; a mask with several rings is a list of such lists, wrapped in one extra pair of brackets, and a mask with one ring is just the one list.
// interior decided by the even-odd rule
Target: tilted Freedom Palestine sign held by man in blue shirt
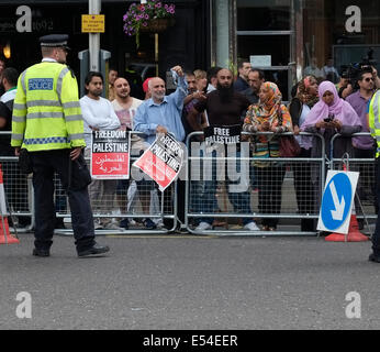
[(164, 191), (178, 176), (183, 162), (183, 150), (170, 134), (160, 134), (133, 164), (154, 179)]

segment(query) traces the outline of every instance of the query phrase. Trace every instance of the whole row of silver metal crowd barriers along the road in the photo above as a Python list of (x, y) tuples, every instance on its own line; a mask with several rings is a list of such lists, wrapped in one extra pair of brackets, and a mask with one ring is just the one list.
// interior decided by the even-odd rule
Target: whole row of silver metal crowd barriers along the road
[[(8, 132), (0, 132), (7, 134)], [(315, 136), (321, 142), (321, 155), (317, 157), (259, 158), (250, 156), (250, 143), (242, 142), (239, 154), (232, 148), (231, 154), (213, 151), (204, 154), (204, 143), (199, 136), (202, 132), (191, 133), (186, 142), (188, 148), (187, 179), (185, 194), (185, 223), (182, 229), (192, 234), (215, 235), (315, 235), (316, 219), (324, 189), (327, 169), (342, 168), (342, 158), (325, 157), (325, 142), (320, 134), (301, 133), (304, 136)], [(271, 134), (261, 132), (259, 134)], [(356, 135), (368, 135), (358, 133)], [(243, 133), (249, 136), (250, 133)], [(292, 135), (292, 133), (286, 133)], [(335, 135), (334, 143), (340, 135)], [(331, 154), (333, 155), (333, 154)], [(131, 165), (138, 156), (131, 156)], [(90, 160), (87, 157), (87, 162)], [(259, 167), (265, 162), (266, 167)], [(9, 213), (19, 231), (31, 231), (34, 227), (34, 199), (31, 175), (20, 173), (18, 158), (0, 156), (2, 165), (4, 190)], [(259, 163), (259, 164), (257, 164)], [(261, 164), (262, 166), (262, 164)], [(364, 208), (361, 213), (356, 206), (358, 219), (367, 217), (376, 219), (373, 211), (375, 198), (371, 191), (375, 180), (373, 158), (349, 157), (349, 169), (359, 170), (359, 198)], [(267, 170), (270, 170), (269, 173)], [(213, 174), (214, 172), (214, 174)], [(99, 189), (91, 193), (91, 205), (96, 222), (103, 223), (97, 234), (131, 234), (152, 233), (165, 234), (178, 229), (179, 208), (178, 183), (174, 183), (165, 193), (160, 193), (153, 183), (138, 184), (130, 182), (108, 180)], [(216, 176), (216, 177), (213, 177)], [(70, 228), (70, 211), (68, 199), (58, 177), (55, 178), (56, 216), (65, 221), (65, 229), (56, 229), (56, 233), (72, 234)], [(275, 201), (262, 201), (262, 193), (277, 189), (280, 196)], [(260, 195), (261, 190), (261, 195)], [(365, 195), (365, 196), (362, 196)], [(280, 204), (278, 199), (281, 199)], [(261, 201), (260, 201), (261, 200)], [(148, 207), (148, 210), (147, 210)], [(141, 220), (150, 218), (157, 223), (157, 229), (146, 230)], [(197, 226), (205, 219), (213, 219), (212, 229), (197, 231)], [(27, 224), (20, 227), (23, 219)], [(120, 221), (130, 220), (128, 230), (120, 228)], [(255, 220), (260, 227), (262, 219), (278, 221), (276, 231), (252, 231), (244, 228), (247, 220)], [(27, 221), (29, 220), (29, 221)], [(99, 220), (99, 221), (98, 221)], [(300, 230), (300, 221), (314, 221), (312, 230)], [(166, 227), (164, 227), (164, 221)], [(169, 223), (168, 223), (169, 222)]]

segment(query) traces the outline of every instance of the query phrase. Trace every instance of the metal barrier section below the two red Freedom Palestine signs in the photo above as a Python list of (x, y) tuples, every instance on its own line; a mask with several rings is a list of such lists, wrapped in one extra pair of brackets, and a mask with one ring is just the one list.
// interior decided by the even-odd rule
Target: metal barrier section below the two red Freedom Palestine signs
[[(133, 131), (133, 134), (143, 133)], [(142, 172), (137, 172), (136, 168), (132, 168), (132, 164), (139, 157), (133, 151), (137, 153), (141, 150), (131, 150), (128, 180), (101, 179), (93, 180), (89, 185), (97, 234), (164, 234), (172, 232), (177, 228), (177, 183), (172, 183), (164, 193), (159, 191), (152, 179), (148, 179)], [(85, 158), (90, 167), (90, 155), (87, 151), (85, 151)], [(58, 177), (56, 178), (56, 195), (60, 195), (62, 198), (57, 217), (67, 221), (70, 219), (68, 199), (64, 196), (65, 191)], [(126, 219), (128, 229), (121, 227), (121, 221), (125, 222)], [(156, 229), (146, 229), (143, 223), (145, 219), (150, 219), (156, 224)], [(55, 232), (71, 233), (72, 231), (69, 228)]]

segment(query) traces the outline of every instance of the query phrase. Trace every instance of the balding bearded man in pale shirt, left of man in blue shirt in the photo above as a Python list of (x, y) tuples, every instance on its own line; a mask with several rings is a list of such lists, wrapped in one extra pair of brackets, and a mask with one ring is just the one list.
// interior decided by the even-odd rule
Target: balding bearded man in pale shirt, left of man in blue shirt
[[(142, 105), (143, 100), (139, 100), (130, 96), (131, 94), (130, 84), (123, 77), (116, 78), (113, 84), (113, 87), (115, 92), (115, 99), (111, 103), (120, 120), (121, 129), (123, 131), (132, 130), (133, 118), (135, 117), (136, 110)], [(131, 135), (131, 143), (132, 143), (131, 156), (134, 156), (134, 157), (138, 157), (139, 152), (145, 151), (148, 146), (143, 141), (143, 139), (138, 138), (138, 135), (136, 134)], [(153, 190), (152, 183), (138, 180), (136, 182), (136, 184), (137, 184), (137, 189), (139, 195), (139, 201), (143, 208), (143, 213), (149, 213), (150, 191)], [(122, 213), (125, 213), (127, 211), (126, 191), (128, 187), (130, 187), (130, 180), (127, 179), (119, 180), (116, 193), (118, 193), (119, 206)], [(128, 199), (128, 200), (132, 201), (132, 199)], [(127, 229), (128, 219), (126, 218), (122, 219), (122, 221), (120, 222), (120, 226), (124, 229)], [(144, 226), (147, 230), (154, 230), (156, 228), (156, 224), (149, 218), (146, 218), (144, 220)]]

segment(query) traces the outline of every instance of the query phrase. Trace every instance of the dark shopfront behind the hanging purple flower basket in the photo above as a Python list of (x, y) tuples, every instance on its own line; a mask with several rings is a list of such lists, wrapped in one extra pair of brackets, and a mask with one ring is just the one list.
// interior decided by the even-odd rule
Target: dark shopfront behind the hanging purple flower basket
[[(139, 1), (101, 1), (105, 32), (100, 34), (100, 46), (111, 53), (110, 67), (120, 75), (136, 70), (152, 76), (158, 66), (158, 74), (165, 77), (166, 70), (177, 64), (187, 69), (208, 66), (210, 43), (204, 33), (210, 25), (209, 1), (165, 1), (176, 6), (175, 21), (158, 37), (143, 32), (138, 47), (135, 37), (123, 32), (123, 15), (133, 2)], [(88, 9), (88, 0), (0, 0), (0, 54), (7, 54), (8, 66), (22, 72), (41, 59), (40, 36), (67, 33), (71, 47), (68, 62), (79, 76), (78, 53), (89, 47), (89, 34), (81, 32), (81, 14), (87, 14)]]

